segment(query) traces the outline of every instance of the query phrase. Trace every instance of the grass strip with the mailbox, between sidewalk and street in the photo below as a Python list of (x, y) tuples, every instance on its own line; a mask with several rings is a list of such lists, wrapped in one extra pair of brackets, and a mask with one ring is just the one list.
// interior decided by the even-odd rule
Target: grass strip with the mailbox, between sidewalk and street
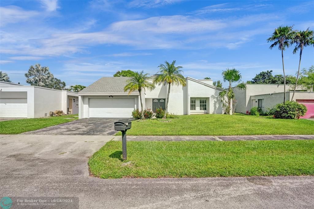
[(106, 143), (89, 159), (100, 178), (314, 175), (314, 140)]

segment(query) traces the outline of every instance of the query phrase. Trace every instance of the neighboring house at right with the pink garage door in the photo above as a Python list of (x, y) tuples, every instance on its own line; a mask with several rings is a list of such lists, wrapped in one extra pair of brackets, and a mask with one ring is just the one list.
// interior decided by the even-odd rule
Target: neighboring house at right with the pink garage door
[[(290, 101), (293, 94), (293, 85), (286, 85), (286, 101)], [(260, 107), (263, 111), (273, 108), (276, 104), (282, 103), (284, 99), (284, 85), (278, 84), (246, 84), (246, 90), (233, 88), (237, 105), (235, 112), (246, 113), (252, 107)], [(314, 118), (314, 92), (300, 91), (297, 88), (294, 101), (304, 104), (307, 113), (302, 118)]]

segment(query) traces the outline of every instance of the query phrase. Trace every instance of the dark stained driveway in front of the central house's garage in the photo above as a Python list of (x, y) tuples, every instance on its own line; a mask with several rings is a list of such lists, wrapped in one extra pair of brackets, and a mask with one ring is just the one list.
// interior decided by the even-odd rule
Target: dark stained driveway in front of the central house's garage
[(63, 123), (56, 126), (42, 128), (36, 131), (30, 131), (23, 134), (39, 135), (87, 135), (101, 136), (114, 135), (113, 123), (116, 121), (128, 121), (129, 118), (83, 118), (77, 121)]

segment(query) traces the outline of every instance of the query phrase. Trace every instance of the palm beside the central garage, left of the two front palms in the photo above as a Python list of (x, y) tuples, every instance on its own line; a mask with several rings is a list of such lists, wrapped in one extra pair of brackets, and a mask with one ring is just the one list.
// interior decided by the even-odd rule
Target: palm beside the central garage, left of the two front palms
[(135, 72), (135, 74), (130, 77), (129, 80), (127, 80), (127, 85), (124, 87), (124, 92), (129, 91), (129, 94), (131, 94), (133, 91), (139, 92), (139, 99), (141, 101), (141, 108), (142, 108), (142, 118), (144, 116), (143, 112), (143, 102), (142, 102), (142, 90), (144, 90), (144, 93), (146, 91), (146, 88), (149, 90), (153, 90), (155, 88), (155, 85), (153, 83), (150, 83), (149, 81), (149, 74), (144, 74), (144, 71), (142, 72)]

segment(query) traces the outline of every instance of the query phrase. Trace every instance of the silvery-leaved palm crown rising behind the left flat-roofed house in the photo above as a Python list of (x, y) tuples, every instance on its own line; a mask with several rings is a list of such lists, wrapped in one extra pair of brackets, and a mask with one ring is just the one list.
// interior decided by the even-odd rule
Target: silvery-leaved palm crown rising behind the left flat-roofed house
[(36, 86), (46, 86), (52, 82), (53, 75), (49, 72), (49, 67), (41, 67), (40, 64), (30, 66), (30, 69), (25, 73), (26, 83)]

